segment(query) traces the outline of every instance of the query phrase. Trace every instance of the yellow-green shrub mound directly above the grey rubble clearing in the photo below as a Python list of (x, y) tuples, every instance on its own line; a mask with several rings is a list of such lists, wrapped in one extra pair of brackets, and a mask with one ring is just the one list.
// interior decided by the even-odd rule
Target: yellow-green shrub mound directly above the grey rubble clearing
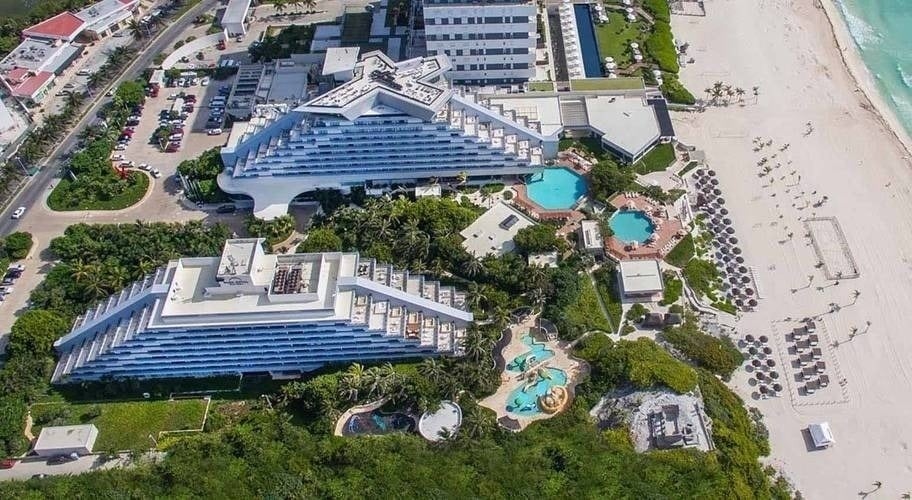
[(645, 337), (612, 342), (605, 335), (591, 335), (580, 342), (575, 354), (588, 361), (591, 370), (591, 381), (581, 391), (584, 397), (601, 397), (622, 381), (639, 389), (664, 386), (678, 393), (697, 385), (693, 368)]

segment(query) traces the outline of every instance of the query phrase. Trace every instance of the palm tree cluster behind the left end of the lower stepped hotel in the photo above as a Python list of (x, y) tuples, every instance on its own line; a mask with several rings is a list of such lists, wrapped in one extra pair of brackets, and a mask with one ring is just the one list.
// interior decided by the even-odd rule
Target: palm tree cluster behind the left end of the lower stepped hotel
[(87, 225), (51, 241), (60, 261), (31, 296), (36, 308), (72, 317), (171, 259), (218, 255), (230, 230), (200, 221)]

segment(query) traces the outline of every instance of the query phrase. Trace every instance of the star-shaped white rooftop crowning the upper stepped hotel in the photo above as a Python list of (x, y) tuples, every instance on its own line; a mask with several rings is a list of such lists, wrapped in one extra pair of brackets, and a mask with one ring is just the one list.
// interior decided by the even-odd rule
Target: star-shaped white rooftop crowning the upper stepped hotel
[(433, 81), (450, 69), (446, 56), (416, 57), (394, 62), (380, 51), (361, 56), (354, 78), (305, 103), (300, 111), (339, 114), (349, 120), (375, 104), (393, 104), (430, 118), (447, 102), (452, 91)]

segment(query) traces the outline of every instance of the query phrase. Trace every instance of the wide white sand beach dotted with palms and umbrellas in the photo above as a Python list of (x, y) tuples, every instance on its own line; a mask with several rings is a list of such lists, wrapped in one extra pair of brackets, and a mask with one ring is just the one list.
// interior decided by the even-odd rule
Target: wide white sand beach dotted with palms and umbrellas
[[(828, 335), (842, 342), (838, 348), (824, 348), (828, 359), (835, 356), (847, 380), (847, 402), (807, 405), (802, 403), (809, 399), (797, 398), (798, 405), (793, 405), (789, 397), (755, 401), (743, 372), (735, 388), (766, 415), (773, 447), (769, 461), (784, 468), (806, 498), (853, 498), (875, 489), (874, 481), (883, 486), (873, 496), (899, 498), (912, 488), (909, 153), (886, 124), (892, 118), (880, 118), (857, 90), (820, 5), (807, 0), (715, 1), (707, 3), (707, 11), (705, 18), (673, 18), (676, 37), (690, 43), (696, 59), (683, 71), (684, 83), (702, 94), (722, 80), (748, 95), (743, 106), (734, 102), (674, 118), (681, 140), (705, 149), (718, 171), (745, 257), (763, 283), (765, 298), (757, 312), (742, 317), (740, 330), (772, 336), (777, 334), (775, 320), (825, 313), (831, 302), (845, 306), (825, 314), (823, 321)], [(835, 21), (837, 35), (847, 40)], [(859, 64), (851, 46), (844, 46), (849, 47), (849, 64)], [(862, 85), (869, 85), (862, 66), (856, 66), (856, 74)], [(754, 85), (760, 87), (756, 101), (750, 91)], [(815, 130), (805, 137), (808, 121)], [(755, 136), (775, 144), (755, 153)], [(783, 143), (791, 148), (779, 153)], [(756, 163), (774, 153), (778, 158), (771, 163), (784, 165), (774, 172), (772, 186), (764, 187), (768, 178), (757, 176)], [(793, 163), (785, 165), (788, 160)], [(793, 169), (796, 176), (789, 176)], [(800, 186), (786, 193), (785, 184), (794, 183), (798, 174)], [(810, 201), (826, 195), (829, 202), (819, 209), (798, 210), (792, 203), (805, 202), (792, 196), (800, 191)], [(838, 218), (860, 278), (833, 286), (815, 269), (817, 258), (798, 220), (812, 210), (818, 217)], [(778, 243), (789, 231), (794, 239)], [(807, 285), (811, 274), (813, 286), (790, 291)], [(829, 286), (818, 291), (819, 285)], [(850, 305), (853, 290), (861, 296)], [(866, 321), (872, 322), (869, 333), (845, 342), (851, 328), (864, 329)], [(780, 366), (788, 361), (781, 359), (786, 364)], [(782, 371), (790, 376), (793, 370)], [(829, 389), (834, 396), (840, 393), (832, 399), (842, 399), (837, 376), (831, 372), (830, 377), (835, 387)], [(802, 430), (823, 420), (830, 422), (837, 443), (825, 451), (809, 451)]]

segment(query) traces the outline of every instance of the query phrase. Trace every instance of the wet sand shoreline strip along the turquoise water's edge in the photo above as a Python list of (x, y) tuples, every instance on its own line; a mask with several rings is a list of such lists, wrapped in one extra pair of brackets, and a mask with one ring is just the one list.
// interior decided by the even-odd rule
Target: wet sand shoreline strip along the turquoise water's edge
[[(868, 110), (876, 115), (878, 121), (892, 133), (902, 149), (905, 150), (905, 160), (909, 161), (912, 159), (912, 137), (906, 132), (896, 113), (886, 103), (884, 96), (877, 89), (877, 84), (874, 81), (875, 77), (865, 64), (861, 51), (846, 24), (845, 17), (835, 2), (836, 0), (815, 0), (814, 6), (823, 11), (823, 15), (827, 23), (829, 23), (833, 42), (836, 44), (837, 50), (839, 50), (842, 65), (855, 82), (855, 87), (862, 94), (863, 104), (867, 105)], [(912, 166), (912, 162), (910, 162), (910, 166)]]

